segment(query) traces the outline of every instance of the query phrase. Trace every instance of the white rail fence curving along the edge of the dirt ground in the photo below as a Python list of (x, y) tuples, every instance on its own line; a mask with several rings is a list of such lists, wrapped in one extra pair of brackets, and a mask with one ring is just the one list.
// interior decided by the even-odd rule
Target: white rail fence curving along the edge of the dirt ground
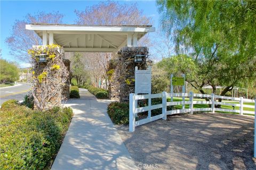
[[(168, 98), (179, 97), (182, 98), (182, 101), (167, 101)], [(161, 104), (151, 105), (151, 99), (162, 98)], [(186, 98), (186, 99), (185, 99)], [(134, 132), (135, 126), (139, 126), (145, 123), (149, 123), (160, 118), (166, 120), (167, 115), (180, 114), (180, 113), (190, 113), (193, 112), (231, 112), (243, 114), (254, 114), (256, 112), (255, 105), (245, 105), (244, 103), (255, 103), (255, 100), (244, 99), (243, 97), (228, 97), (228, 96), (219, 96), (219, 95), (206, 95), (206, 94), (194, 94), (190, 93), (167, 93), (162, 92), (161, 94), (149, 94), (149, 95), (135, 95), (130, 94), (130, 111), (129, 111), (129, 131)], [(148, 99), (148, 106), (137, 107), (138, 100)], [(205, 100), (206, 99), (206, 100)], [(185, 106), (189, 108), (185, 108)], [(195, 108), (194, 105), (204, 105), (202, 108)], [(182, 106), (182, 109), (172, 109), (167, 111), (167, 106)], [(233, 109), (220, 108), (220, 106), (231, 106)], [(151, 111), (154, 109), (162, 108), (162, 114), (156, 116), (151, 116)], [(244, 111), (244, 108), (254, 108), (253, 111)], [(147, 118), (142, 120), (135, 121), (136, 116), (142, 112), (150, 112)]]

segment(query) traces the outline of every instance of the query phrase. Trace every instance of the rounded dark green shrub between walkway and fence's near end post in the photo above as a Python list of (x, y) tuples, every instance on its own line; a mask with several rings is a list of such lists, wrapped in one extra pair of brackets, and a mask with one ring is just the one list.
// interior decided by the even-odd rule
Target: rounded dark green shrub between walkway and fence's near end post
[(108, 105), (108, 115), (115, 124), (129, 123), (129, 103), (113, 102)]

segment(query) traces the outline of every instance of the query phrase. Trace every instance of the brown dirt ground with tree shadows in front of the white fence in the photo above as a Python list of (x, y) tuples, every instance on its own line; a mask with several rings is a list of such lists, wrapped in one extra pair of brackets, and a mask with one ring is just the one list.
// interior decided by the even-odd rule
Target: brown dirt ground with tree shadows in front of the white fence
[(252, 116), (205, 113), (117, 129), (139, 169), (256, 169), (253, 126)]

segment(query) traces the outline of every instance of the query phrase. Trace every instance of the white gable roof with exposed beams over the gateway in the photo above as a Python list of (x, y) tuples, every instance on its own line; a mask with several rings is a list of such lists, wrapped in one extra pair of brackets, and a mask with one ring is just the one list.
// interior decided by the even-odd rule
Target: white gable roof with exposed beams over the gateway
[[(43, 39), (43, 32), (53, 43), (66, 52), (116, 52), (123, 46), (137, 46), (137, 40), (147, 32), (155, 31), (151, 25), (70, 25), (34, 23), (26, 25)], [(133, 41), (132, 39), (136, 39)], [(49, 40), (48, 40), (49, 41)]]

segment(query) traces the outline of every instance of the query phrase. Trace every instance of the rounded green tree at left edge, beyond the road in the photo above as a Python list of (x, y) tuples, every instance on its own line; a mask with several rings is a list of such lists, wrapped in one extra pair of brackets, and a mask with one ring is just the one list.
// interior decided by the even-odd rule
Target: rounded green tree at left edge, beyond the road
[(19, 69), (16, 64), (0, 59), (0, 82), (14, 82), (19, 79)]

